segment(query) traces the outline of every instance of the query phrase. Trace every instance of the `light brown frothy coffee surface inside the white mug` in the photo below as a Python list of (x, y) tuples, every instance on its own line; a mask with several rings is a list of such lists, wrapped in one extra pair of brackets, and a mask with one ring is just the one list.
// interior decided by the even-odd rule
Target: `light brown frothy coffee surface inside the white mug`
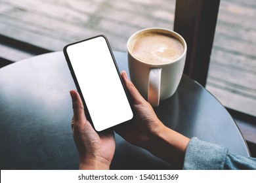
[(135, 58), (147, 63), (170, 63), (184, 52), (182, 43), (163, 33), (144, 33), (133, 40), (131, 51)]

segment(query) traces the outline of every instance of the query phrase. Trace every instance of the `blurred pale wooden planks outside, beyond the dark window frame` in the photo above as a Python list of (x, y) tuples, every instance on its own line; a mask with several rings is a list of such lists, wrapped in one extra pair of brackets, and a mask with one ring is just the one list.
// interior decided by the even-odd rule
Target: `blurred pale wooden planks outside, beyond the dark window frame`
[[(173, 29), (174, 12), (175, 0), (0, 0), (0, 34), (49, 50), (104, 34), (113, 50), (125, 51), (139, 29)], [(255, 0), (221, 0), (206, 86), (226, 107), (254, 116), (255, 18)]]

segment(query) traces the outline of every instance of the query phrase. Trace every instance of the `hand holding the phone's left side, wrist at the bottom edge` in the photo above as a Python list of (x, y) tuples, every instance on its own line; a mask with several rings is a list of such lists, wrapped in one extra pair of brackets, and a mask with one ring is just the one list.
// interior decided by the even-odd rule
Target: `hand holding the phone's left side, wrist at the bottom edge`
[(70, 91), (74, 116), (72, 132), (79, 152), (79, 169), (110, 169), (114, 156), (114, 131), (96, 133), (85, 117), (83, 103), (79, 93)]

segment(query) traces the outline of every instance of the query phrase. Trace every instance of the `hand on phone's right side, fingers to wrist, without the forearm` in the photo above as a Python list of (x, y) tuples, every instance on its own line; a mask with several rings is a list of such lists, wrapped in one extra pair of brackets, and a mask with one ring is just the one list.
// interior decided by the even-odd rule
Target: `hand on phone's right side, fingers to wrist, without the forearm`
[(137, 88), (123, 71), (121, 78), (133, 104), (135, 116), (133, 120), (116, 128), (116, 132), (126, 141), (136, 146), (146, 148), (155, 134), (161, 131), (164, 125), (160, 122), (152, 106), (140, 95)]

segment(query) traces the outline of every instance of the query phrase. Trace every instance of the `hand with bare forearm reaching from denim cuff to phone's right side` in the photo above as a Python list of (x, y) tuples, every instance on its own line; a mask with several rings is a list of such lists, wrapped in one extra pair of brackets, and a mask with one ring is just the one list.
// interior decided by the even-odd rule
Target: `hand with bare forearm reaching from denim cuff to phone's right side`
[(135, 116), (133, 120), (117, 127), (116, 133), (131, 144), (145, 148), (158, 158), (182, 168), (190, 139), (163, 125), (125, 71), (121, 73), (121, 77), (133, 104)]

